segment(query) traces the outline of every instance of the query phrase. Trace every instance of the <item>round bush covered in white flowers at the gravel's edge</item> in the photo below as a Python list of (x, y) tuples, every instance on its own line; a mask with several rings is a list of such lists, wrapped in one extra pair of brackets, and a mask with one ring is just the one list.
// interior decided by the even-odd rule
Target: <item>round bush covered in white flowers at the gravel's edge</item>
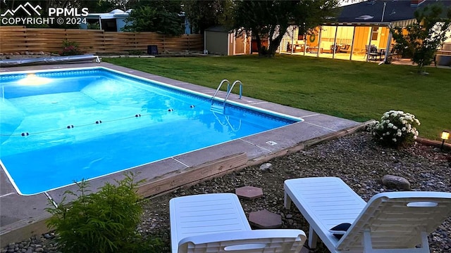
[(381, 122), (376, 122), (372, 132), (376, 141), (400, 148), (414, 142), (418, 136), (416, 127), (419, 125), (415, 115), (390, 110), (382, 115)]

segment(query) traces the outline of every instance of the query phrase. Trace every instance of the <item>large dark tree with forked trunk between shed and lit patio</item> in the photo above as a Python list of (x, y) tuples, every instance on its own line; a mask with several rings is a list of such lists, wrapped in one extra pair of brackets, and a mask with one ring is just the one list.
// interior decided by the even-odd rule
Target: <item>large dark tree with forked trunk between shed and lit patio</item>
[[(337, 6), (338, 0), (237, 1), (230, 28), (252, 33), (259, 56), (273, 57), (290, 25), (306, 32), (335, 16)], [(268, 48), (261, 47), (262, 37), (268, 37)]]

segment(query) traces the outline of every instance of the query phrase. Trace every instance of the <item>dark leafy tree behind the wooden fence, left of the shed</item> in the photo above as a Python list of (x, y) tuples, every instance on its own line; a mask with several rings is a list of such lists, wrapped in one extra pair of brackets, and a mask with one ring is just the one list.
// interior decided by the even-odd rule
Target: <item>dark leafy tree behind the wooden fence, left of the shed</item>
[(123, 30), (180, 35), (183, 34), (180, 12), (179, 1), (140, 1), (126, 20), (129, 25)]

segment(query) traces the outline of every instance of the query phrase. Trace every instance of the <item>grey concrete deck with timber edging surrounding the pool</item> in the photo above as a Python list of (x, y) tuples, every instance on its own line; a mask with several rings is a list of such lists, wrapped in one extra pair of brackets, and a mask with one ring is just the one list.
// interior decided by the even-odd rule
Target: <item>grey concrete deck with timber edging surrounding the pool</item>
[[(211, 96), (215, 92), (215, 89), (131, 70), (109, 63), (2, 67), (0, 72), (55, 70), (77, 67), (106, 67)], [(218, 83), (220, 81), (218, 80)], [(246, 94), (246, 84), (243, 84), (243, 94)], [(218, 93), (219, 98), (224, 98), (224, 96), (224, 92)], [(130, 169), (130, 171), (138, 173), (137, 179), (147, 179), (146, 183), (139, 190), (142, 195), (149, 197), (165, 193), (168, 190), (211, 179), (235, 169), (261, 164), (273, 157), (302, 150), (309, 145), (336, 138), (340, 134), (345, 135), (364, 126), (364, 124), (352, 120), (290, 108), (264, 100), (245, 96), (242, 99), (238, 99), (236, 94), (230, 94), (229, 100), (293, 117), (300, 117), (304, 121)], [(30, 166), (32, 166), (32, 161), (30, 161)], [(90, 188), (97, 189), (107, 181), (113, 182), (114, 179), (121, 180), (123, 177), (123, 172), (118, 172), (98, 179), (92, 179), (89, 181)], [(0, 170), (0, 183), (0, 247), (8, 245), (9, 242), (18, 242), (30, 238), (32, 235), (39, 235), (49, 231), (45, 225), (45, 220), (49, 218), (50, 214), (45, 211), (45, 208), (51, 207), (49, 205), (51, 203), (50, 200), (56, 203), (61, 202), (63, 193), (66, 190), (74, 192), (77, 190), (76, 186), (67, 186), (32, 196), (18, 195), (8, 176), (6, 176), (4, 168)]]

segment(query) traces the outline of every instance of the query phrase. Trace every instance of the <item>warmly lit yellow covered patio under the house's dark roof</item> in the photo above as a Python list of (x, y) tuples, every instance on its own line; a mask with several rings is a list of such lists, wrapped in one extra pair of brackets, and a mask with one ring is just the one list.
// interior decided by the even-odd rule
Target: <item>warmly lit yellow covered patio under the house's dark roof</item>
[(279, 53), (340, 60), (385, 62), (397, 56), (390, 22), (332, 23), (316, 27), (313, 34), (299, 34), (297, 26), (285, 34)]

